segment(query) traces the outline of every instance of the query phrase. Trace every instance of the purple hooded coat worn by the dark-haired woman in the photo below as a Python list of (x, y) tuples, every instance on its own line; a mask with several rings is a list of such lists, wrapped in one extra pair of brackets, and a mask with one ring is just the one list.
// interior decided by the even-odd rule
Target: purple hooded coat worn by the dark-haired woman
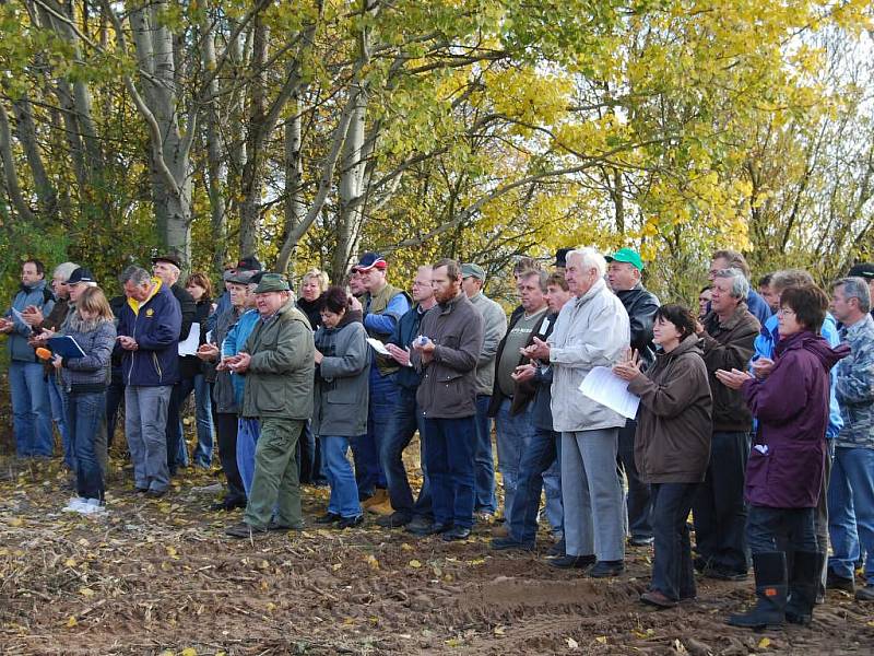
[(813, 332), (796, 332), (777, 343), (767, 378), (744, 383), (744, 398), (758, 418), (746, 464), (748, 503), (816, 506), (826, 453), (828, 372), (848, 352), (845, 347), (832, 349)]

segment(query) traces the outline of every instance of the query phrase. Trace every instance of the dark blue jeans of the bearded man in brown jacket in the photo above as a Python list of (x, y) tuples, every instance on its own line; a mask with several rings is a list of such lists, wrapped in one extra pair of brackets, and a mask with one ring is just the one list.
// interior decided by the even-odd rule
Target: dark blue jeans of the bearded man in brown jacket
[(434, 520), (473, 526), (476, 427), (473, 417), (425, 418), (425, 462), (430, 481)]

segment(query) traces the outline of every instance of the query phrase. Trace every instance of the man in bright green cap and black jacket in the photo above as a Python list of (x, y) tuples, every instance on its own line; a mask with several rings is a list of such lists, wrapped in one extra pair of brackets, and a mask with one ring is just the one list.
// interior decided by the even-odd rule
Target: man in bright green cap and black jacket
[[(643, 262), (636, 250), (621, 248), (606, 258), (610, 262), (607, 282), (613, 293), (622, 301), (628, 313), (631, 328), (633, 350), (640, 354), (643, 368), (656, 359), (656, 344), (652, 343), (652, 317), (659, 308), (659, 300), (640, 282)], [(628, 511), (629, 542), (634, 547), (652, 543), (652, 504), (649, 485), (641, 482), (635, 465), (635, 431), (637, 422), (629, 419), (619, 430), (618, 464), (625, 470), (628, 481), (626, 505)]]

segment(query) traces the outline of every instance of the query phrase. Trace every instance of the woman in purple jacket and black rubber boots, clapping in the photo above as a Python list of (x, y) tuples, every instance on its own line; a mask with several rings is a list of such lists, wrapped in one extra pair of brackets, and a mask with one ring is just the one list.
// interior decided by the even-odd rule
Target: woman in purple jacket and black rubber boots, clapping
[[(848, 353), (819, 335), (828, 297), (816, 286), (786, 290), (780, 298), (780, 341), (767, 378), (718, 371), (742, 389), (758, 432), (746, 465), (746, 536), (756, 574), (756, 606), (729, 618), (760, 629), (787, 620), (811, 621), (826, 546), (817, 544), (813, 517), (824, 476), (829, 370)], [(787, 573), (787, 551), (792, 572)]]

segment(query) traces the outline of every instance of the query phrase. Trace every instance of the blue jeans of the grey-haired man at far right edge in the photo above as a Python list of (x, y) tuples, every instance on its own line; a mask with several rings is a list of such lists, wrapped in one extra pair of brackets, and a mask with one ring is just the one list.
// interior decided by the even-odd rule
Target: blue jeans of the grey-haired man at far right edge
[(874, 584), (874, 449), (835, 447), (828, 483), (828, 532), (834, 555), (828, 566), (852, 578), (865, 552), (865, 579)]

